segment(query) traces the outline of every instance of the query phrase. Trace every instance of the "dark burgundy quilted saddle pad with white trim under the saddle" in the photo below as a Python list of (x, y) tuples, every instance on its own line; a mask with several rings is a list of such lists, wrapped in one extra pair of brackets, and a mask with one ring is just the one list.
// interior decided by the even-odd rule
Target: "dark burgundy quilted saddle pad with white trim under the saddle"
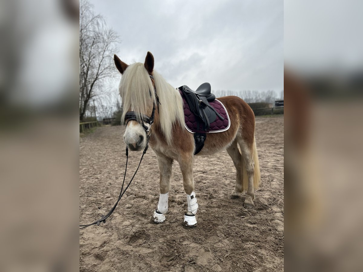
[(185, 128), (190, 133), (216, 133), (223, 132), (229, 129), (231, 123), (229, 121), (229, 116), (224, 105), (217, 99), (213, 102), (209, 102), (209, 104), (215, 108), (215, 110), (224, 118), (221, 120), (218, 116), (217, 119), (211, 123), (209, 131), (199, 130), (203, 127), (203, 124), (200, 124), (200, 121), (197, 120), (196, 116), (190, 111), (189, 105), (184, 98), (183, 93), (178, 89), (181, 98), (183, 99), (183, 108), (184, 108), (184, 120), (185, 120)]

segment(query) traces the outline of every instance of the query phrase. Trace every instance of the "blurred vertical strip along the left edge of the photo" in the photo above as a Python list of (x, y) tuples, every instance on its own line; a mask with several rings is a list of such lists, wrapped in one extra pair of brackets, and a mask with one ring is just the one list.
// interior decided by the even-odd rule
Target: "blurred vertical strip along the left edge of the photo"
[(0, 32), (0, 271), (77, 271), (78, 1), (1, 1)]

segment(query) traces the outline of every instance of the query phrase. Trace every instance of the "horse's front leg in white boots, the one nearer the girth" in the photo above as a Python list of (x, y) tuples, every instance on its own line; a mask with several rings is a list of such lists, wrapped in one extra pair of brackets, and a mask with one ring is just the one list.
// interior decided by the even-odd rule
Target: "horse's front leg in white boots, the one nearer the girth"
[(193, 154), (181, 155), (179, 158), (181, 174), (183, 175), (184, 191), (187, 194), (188, 212), (184, 214), (184, 226), (194, 227), (197, 225), (195, 214), (198, 210), (197, 198), (194, 192), (193, 181)]

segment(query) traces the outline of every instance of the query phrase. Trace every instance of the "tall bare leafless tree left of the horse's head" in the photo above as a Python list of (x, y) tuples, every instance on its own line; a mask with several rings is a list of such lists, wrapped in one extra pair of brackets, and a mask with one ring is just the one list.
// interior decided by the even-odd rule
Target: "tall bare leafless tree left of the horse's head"
[(82, 0), (79, 7), (79, 120), (87, 112), (91, 98), (102, 91), (105, 79), (114, 69), (112, 56), (116, 51), (118, 35), (107, 28), (101, 15), (95, 15), (93, 6)]

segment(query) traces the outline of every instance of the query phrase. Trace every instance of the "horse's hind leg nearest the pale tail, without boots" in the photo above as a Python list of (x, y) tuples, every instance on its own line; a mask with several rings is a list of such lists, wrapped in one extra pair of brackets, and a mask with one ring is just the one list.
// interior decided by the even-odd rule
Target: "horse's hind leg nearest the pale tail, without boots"
[[(238, 140), (238, 144), (241, 148), (242, 160), (244, 160), (245, 169), (242, 171), (247, 172), (248, 184), (247, 184), (247, 194), (243, 206), (246, 208), (253, 208), (254, 200), (254, 190), (253, 190), (253, 177), (254, 177), (254, 161), (253, 161), (253, 143), (248, 144), (244, 140)], [(243, 167), (243, 166), (242, 166)], [(242, 184), (243, 186), (243, 184)], [(245, 186), (243, 186), (245, 187)], [(245, 189), (245, 188), (244, 188)]]

